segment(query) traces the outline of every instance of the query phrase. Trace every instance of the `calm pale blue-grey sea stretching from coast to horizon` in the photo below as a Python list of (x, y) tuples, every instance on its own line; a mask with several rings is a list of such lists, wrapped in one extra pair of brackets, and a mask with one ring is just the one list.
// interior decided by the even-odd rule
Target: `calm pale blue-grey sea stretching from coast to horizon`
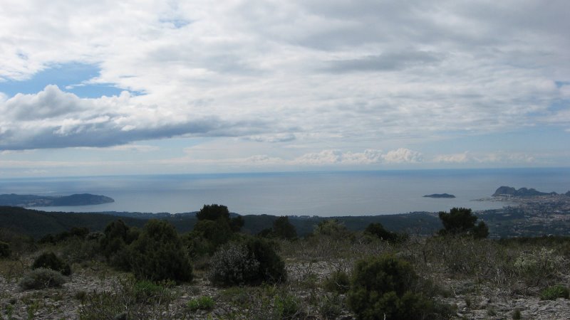
[[(98, 206), (37, 208), (50, 211), (182, 213), (219, 203), (241, 214), (331, 216), (501, 208), (505, 203), (473, 201), (499, 186), (565, 193), (570, 168), (18, 178), (2, 179), (0, 193), (93, 193), (115, 199)], [(457, 198), (423, 198), (431, 193)]]

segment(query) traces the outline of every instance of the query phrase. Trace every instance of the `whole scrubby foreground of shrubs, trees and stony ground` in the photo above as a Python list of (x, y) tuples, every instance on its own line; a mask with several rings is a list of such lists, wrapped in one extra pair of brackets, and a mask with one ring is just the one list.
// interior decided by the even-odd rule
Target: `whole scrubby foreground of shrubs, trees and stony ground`
[(286, 217), (248, 235), (211, 205), (182, 234), (114, 220), (22, 246), (0, 230), (0, 319), (560, 318), (545, 306), (569, 299), (570, 238), (492, 240), (468, 209), (440, 217), (432, 236), (328, 219), (298, 237)]

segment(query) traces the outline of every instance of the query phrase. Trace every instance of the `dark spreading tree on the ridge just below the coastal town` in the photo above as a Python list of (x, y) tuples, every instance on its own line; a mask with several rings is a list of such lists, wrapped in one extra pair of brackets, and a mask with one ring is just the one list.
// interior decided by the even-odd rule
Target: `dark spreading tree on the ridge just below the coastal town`
[(443, 229), (440, 235), (472, 235), (474, 238), (487, 238), (489, 228), (480, 221), (477, 225), (477, 216), (468, 208), (452, 208), (449, 213), (440, 211), (440, 220)]

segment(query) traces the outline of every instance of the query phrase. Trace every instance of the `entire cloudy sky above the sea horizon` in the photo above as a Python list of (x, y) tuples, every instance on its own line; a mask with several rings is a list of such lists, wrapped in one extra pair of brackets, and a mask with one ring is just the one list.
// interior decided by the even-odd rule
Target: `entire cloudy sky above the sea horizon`
[(570, 165), (567, 0), (0, 4), (0, 178)]

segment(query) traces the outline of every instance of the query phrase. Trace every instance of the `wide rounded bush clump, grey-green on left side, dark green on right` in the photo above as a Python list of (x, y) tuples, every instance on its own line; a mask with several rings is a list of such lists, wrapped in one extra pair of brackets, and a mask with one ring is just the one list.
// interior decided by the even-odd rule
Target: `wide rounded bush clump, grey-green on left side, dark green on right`
[(221, 286), (283, 282), (285, 263), (270, 242), (248, 238), (221, 247), (212, 257), (208, 277)]

